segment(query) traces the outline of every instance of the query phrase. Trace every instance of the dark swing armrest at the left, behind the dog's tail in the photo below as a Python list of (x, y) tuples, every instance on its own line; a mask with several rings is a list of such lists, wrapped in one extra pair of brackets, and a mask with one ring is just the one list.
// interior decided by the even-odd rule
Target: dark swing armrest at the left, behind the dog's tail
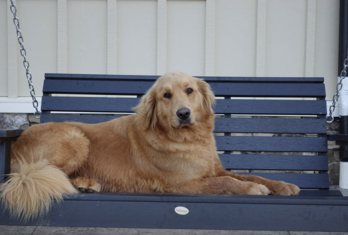
[(0, 184), (10, 174), (11, 142), (22, 134), (24, 130), (0, 130)]

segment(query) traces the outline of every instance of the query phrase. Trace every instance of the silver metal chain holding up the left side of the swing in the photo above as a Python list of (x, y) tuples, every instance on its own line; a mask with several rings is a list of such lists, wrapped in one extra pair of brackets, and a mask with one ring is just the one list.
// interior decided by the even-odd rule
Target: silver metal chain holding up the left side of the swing
[(37, 109), (38, 103), (37, 103), (36, 97), (35, 97), (34, 85), (31, 81), (31, 78), (32, 78), (31, 73), (29, 72), (29, 61), (26, 59), (27, 52), (24, 49), (24, 45), (23, 45), (24, 40), (23, 40), (21, 29), (19, 28), (19, 19), (16, 15), (17, 9), (16, 9), (16, 6), (13, 4), (13, 1), (10, 0), (10, 2), (11, 2), (10, 10), (13, 13), (13, 23), (16, 26), (16, 32), (17, 32), (17, 38), (18, 38), (19, 45), (21, 45), (21, 49), (19, 50), (19, 52), (21, 53), (21, 56), (23, 56), (23, 58), (24, 58), (23, 65), (26, 69), (26, 76), (27, 76), (27, 80), (28, 80), (28, 84), (29, 84), (30, 96), (33, 100), (33, 107), (35, 108), (34, 116), (37, 119), (39, 119), (41, 117), (41, 112)]

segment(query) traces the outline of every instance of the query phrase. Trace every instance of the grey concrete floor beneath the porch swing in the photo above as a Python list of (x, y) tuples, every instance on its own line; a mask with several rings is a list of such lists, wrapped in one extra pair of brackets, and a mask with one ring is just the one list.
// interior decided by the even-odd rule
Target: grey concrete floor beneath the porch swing
[[(348, 196), (348, 190), (332, 185)], [(348, 226), (348, 224), (347, 224)], [(236, 231), (236, 230), (183, 230), (135, 228), (80, 228), (41, 226), (0, 226), (0, 235), (348, 235), (348, 232), (298, 232), (298, 231)]]

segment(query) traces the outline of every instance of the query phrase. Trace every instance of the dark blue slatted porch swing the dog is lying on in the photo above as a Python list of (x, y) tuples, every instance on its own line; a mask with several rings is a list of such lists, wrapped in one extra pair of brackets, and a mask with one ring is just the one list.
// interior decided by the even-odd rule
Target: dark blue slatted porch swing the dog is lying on
[[(45, 74), (41, 123), (99, 123), (132, 113), (158, 77)], [(47, 216), (27, 223), (0, 208), (0, 225), (348, 231), (348, 197), (329, 191), (326, 154), (328, 137), (342, 145), (348, 138), (326, 135), (324, 79), (199, 78), (218, 97), (214, 132), (222, 165), (242, 171), (239, 174), (296, 184), (299, 196), (66, 195)], [(20, 134), (21, 130), (0, 131), (0, 175), (9, 173), (11, 141)], [(178, 206), (189, 213), (177, 214)]]

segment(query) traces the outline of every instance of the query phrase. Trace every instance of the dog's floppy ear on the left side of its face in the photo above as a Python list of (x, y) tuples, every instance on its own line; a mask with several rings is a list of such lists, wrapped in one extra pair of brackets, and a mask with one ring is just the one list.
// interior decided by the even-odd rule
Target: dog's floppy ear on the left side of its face
[(144, 120), (146, 129), (154, 129), (157, 123), (156, 96), (155, 89), (152, 87), (141, 98), (140, 103), (133, 110)]

